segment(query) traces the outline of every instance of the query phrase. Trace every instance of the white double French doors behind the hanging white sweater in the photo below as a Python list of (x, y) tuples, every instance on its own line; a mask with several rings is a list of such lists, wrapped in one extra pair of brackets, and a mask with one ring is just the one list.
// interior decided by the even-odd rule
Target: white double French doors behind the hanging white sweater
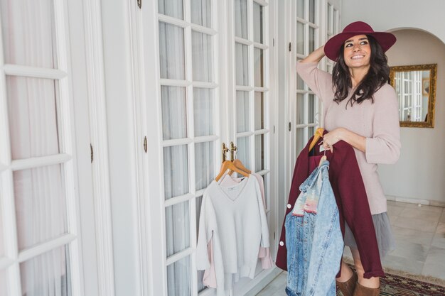
[[(148, 295), (214, 295), (196, 270), (195, 247), (203, 192), (218, 175), (223, 143), (235, 143), (236, 157), (264, 177), (269, 228), (276, 227), (269, 1), (159, 0), (142, 5), (136, 27), (139, 17), (146, 108), (138, 122), (140, 138), (151, 143), (139, 155), (150, 215), (141, 219), (150, 248), (143, 285)], [(247, 292), (239, 287), (230, 293)]]

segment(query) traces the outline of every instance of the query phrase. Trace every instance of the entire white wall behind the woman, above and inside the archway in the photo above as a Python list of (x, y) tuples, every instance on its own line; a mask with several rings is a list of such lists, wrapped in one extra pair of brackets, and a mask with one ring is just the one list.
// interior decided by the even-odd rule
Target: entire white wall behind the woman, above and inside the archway
[(437, 63), (434, 128), (401, 128), (399, 162), (379, 168), (385, 194), (437, 205), (445, 205), (444, 13), (445, 1), (441, 0), (343, 0), (342, 6), (342, 28), (365, 21), (375, 31), (395, 33), (397, 43), (387, 52), (391, 66)]

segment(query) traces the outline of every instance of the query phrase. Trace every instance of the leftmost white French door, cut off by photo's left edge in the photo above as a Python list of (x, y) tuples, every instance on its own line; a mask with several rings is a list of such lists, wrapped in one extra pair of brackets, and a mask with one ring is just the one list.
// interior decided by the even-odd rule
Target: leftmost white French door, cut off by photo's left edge
[(82, 263), (95, 250), (88, 211), (92, 240), (80, 236), (90, 140), (87, 99), (73, 99), (68, 1), (1, 0), (0, 12), (0, 295), (97, 295), (95, 257)]

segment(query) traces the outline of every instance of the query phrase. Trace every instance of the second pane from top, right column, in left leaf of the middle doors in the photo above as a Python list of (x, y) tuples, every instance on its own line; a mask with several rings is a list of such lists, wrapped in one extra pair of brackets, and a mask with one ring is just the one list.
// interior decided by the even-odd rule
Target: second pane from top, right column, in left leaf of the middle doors
[(213, 81), (212, 36), (192, 31), (193, 80)]

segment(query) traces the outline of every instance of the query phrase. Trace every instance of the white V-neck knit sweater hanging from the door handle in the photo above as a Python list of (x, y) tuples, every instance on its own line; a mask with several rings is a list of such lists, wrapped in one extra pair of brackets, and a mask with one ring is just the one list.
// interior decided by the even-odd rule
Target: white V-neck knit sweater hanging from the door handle
[(217, 295), (223, 296), (231, 284), (228, 275), (254, 278), (259, 246), (269, 247), (262, 194), (254, 176), (230, 187), (213, 181), (205, 190), (196, 249), (198, 270), (210, 267), (207, 244), (212, 237)]

